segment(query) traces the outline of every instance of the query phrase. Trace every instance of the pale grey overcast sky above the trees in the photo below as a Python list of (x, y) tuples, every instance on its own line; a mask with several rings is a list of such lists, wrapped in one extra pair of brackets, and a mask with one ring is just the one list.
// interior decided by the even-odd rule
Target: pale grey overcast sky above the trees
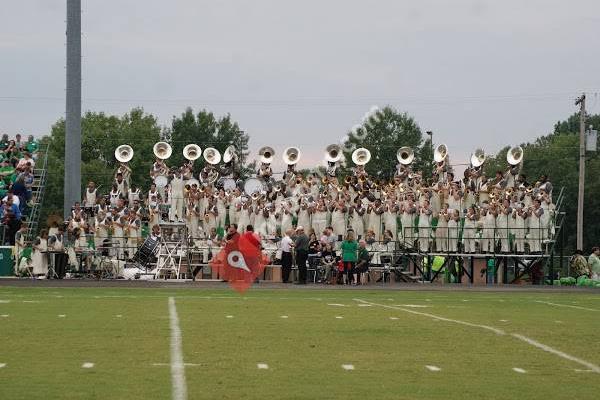
[[(66, 0), (3, 1), (0, 132), (64, 115)], [(414, 116), (452, 161), (600, 113), (600, 1), (83, 0), (83, 109), (230, 112), (253, 150), (322, 157), (372, 105)]]

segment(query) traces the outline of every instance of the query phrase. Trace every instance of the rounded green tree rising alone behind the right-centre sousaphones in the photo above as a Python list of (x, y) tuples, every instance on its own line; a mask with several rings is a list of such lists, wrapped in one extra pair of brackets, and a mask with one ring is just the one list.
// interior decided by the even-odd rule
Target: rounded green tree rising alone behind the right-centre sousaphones
[(344, 146), (346, 167), (352, 166), (352, 151), (365, 147), (371, 152), (371, 161), (366, 165), (369, 175), (384, 179), (391, 178), (396, 171), (396, 152), (409, 146), (415, 150), (414, 168), (422, 169), (428, 162), (431, 145), (423, 145), (419, 125), (406, 113), (386, 106), (372, 113), (361, 125), (348, 133)]

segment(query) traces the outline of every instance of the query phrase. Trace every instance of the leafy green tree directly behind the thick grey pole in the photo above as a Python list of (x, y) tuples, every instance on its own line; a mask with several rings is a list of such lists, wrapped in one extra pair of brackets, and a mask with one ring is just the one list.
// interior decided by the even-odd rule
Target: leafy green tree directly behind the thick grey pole
[[(117, 168), (115, 149), (121, 144), (133, 148), (134, 156), (129, 163), (131, 182), (147, 188), (148, 172), (153, 162), (152, 146), (160, 140), (161, 128), (156, 118), (134, 108), (119, 117), (102, 112), (87, 112), (81, 119), (81, 183), (82, 188), (92, 180), (102, 186), (100, 193), (108, 193)], [(48, 181), (41, 213), (41, 225), (49, 214), (62, 215), (64, 193), (65, 120), (58, 120), (50, 136), (44, 138), (49, 144)]]

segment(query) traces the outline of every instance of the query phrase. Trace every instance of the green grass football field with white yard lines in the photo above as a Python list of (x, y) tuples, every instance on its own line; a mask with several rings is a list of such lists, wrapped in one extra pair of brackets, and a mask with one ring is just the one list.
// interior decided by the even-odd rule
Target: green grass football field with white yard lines
[(189, 399), (600, 398), (593, 293), (0, 288), (0, 399), (177, 398), (169, 297)]

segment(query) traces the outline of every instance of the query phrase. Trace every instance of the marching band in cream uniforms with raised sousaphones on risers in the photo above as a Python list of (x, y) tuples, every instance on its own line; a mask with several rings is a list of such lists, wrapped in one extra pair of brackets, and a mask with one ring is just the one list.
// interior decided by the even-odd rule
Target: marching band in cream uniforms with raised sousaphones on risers
[[(115, 150), (118, 169), (109, 194), (98, 194), (90, 182), (83, 207), (76, 205), (69, 230), (94, 236), (101, 247), (112, 236), (119, 258), (131, 258), (147, 222), (151, 230), (162, 222), (185, 223), (190, 240), (214, 237), (219, 228), (235, 223), (240, 232), (253, 225), (265, 240), (274, 240), (303, 226), (319, 237), (329, 230), (341, 241), (348, 230), (368, 242), (397, 241), (421, 253), (541, 252), (552, 235), (552, 185), (542, 177), (529, 185), (522, 175), (523, 149), (511, 148), (506, 171), (494, 177), (483, 172), (486, 156), (477, 149), (462, 179), (455, 179), (445, 144), (434, 152), (434, 171), (426, 178), (412, 168), (414, 151), (397, 151), (397, 165), (390, 180), (371, 177), (365, 166), (371, 159), (366, 148), (352, 153), (354, 169), (345, 177), (337, 172), (343, 152), (338, 145), (325, 149), (325, 172), (307, 176), (296, 172), (301, 152), (289, 147), (283, 153), (287, 165), (280, 180), (271, 164), (275, 150), (259, 150), (255, 176), (236, 179), (238, 156), (229, 146), (221, 157), (212, 147), (201, 150), (187, 145), (187, 162), (169, 168), (172, 154), (166, 142), (154, 145), (156, 160), (150, 170), (152, 184), (146, 196), (131, 182), (128, 162), (133, 149)], [(194, 176), (194, 162), (203, 157), (205, 165)], [(83, 237), (82, 236), (82, 237)], [(83, 239), (82, 239), (83, 240)], [(527, 247), (526, 247), (527, 246)]]

